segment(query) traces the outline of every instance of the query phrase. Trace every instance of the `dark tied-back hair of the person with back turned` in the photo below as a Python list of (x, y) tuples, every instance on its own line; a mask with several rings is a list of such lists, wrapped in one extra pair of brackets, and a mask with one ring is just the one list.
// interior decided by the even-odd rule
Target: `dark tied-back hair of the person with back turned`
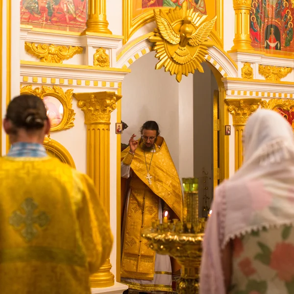
[(6, 111), (6, 120), (13, 126), (27, 131), (39, 130), (48, 120), (43, 100), (35, 95), (20, 95), (11, 100)]

